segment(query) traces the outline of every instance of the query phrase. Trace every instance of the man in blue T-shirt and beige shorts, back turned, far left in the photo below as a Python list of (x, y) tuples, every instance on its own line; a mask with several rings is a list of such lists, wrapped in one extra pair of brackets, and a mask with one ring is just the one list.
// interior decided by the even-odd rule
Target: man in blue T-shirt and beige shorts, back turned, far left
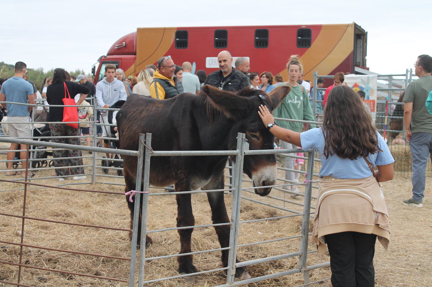
[[(27, 73), (27, 65), (24, 62), (16, 62), (15, 64), (15, 75), (9, 78), (1, 86), (0, 102), (14, 102), (14, 103), (31, 103), (35, 104), (35, 97), (33, 93), (33, 86), (28, 81), (25, 81), (22, 77)], [(17, 105), (11, 103), (4, 103), (4, 107), (8, 109), (8, 122), (14, 122), (8, 124), (10, 137), (31, 137), (32, 127), (30, 125), (29, 115), (32, 110), (32, 106)], [(18, 143), (11, 143), (9, 150), (16, 150)], [(21, 144), (21, 150), (19, 158), (22, 162), (22, 168), (26, 168), (27, 158), (26, 150), (27, 145)], [(13, 160), (15, 158), (15, 152), (8, 152), (7, 159)], [(16, 175), (12, 172), (13, 162), (7, 162), (7, 169), (11, 170), (6, 172), (6, 175)], [(22, 171), (22, 175), (25, 176), (25, 171)], [(30, 173), (29, 176), (32, 174)]]

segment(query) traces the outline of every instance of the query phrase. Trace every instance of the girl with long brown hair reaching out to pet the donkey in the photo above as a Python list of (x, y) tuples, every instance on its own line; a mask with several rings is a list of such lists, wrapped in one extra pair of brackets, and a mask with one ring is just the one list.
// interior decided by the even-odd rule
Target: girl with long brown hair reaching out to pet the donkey
[[(347, 86), (334, 87), (322, 128), (302, 133), (269, 126), (274, 118), (266, 106), (261, 105), (258, 113), (277, 138), (304, 150), (318, 150), (321, 181), (311, 242), (318, 245), (320, 257), (327, 243), (333, 286), (373, 287), (375, 240), (378, 236), (387, 249), (390, 238), (378, 181), (393, 179), (394, 159), (360, 97)], [(368, 163), (378, 170), (369, 169)]]

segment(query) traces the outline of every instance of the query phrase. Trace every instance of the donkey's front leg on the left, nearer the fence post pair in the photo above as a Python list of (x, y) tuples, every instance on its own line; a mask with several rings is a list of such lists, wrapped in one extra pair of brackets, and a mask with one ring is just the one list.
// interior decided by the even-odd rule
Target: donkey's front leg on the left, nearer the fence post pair
[[(191, 190), (190, 184), (176, 181), (175, 191)], [(177, 227), (195, 225), (194, 214), (192, 213), (191, 193), (177, 194)], [(191, 236), (194, 228), (179, 229), (180, 235), (180, 254), (191, 252)], [(184, 255), (177, 257), (178, 272), (181, 274), (189, 274), (197, 272), (197, 268), (192, 263), (192, 255)], [(193, 279), (192, 279), (193, 280)]]

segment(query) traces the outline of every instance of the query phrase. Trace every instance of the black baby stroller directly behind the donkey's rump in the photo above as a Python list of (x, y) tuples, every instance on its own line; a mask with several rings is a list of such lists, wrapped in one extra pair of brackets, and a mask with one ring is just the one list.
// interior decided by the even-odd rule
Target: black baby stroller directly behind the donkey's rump
[[(123, 106), (124, 104), (124, 100), (120, 100), (117, 101), (116, 103), (114, 103), (114, 105), (110, 106), (111, 109), (120, 109), (121, 106)], [(115, 115), (117, 115), (118, 111), (108, 111), (108, 123), (109, 124), (117, 124), (116, 120), (115, 120)], [(103, 118), (101, 117), (102, 122), (103, 122)], [(111, 131), (111, 135), (113, 135), (114, 137), (117, 138), (117, 140), (108, 140), (109, 143), (109, 147), (111, 149), (119, 149), (120, 148), (120, 143), (118, 142), (118, 132), (114, 131), (114, 126), (103, 126), (102, 128), (106, 128), (106, 129), (110, 129)], [(108, 134), (108, 133), (107, 133)], [(111, 159), (121, 159), (121, 156), (119, 154), (111, 154), (111, 159), (108, 159), (107, 156), (102, 156), (102, 166), (105, 167), (110, 167), (110, 166), (114, 166), (116, 168), (123, 168), (123, 162), (117, 161), (117, 160), (111, 160)], [(102, 168), (102, 172), (105, 174), (108, 174), (108, 168)], [(121, 169), (117, 169), (117, 175), (119, 176), (123, 176), (123, 171)]]

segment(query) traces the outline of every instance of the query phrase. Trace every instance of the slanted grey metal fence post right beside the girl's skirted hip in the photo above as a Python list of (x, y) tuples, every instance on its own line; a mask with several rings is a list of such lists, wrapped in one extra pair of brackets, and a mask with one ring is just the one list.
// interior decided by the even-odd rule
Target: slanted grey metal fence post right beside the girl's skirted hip
[[(312, 193), (312, 180), (314, 179), (314, 157), (315, 151), (311, 150), (308, 154), (308, 175), (306, 176), (305, 187), (305, 202), (303, 206), (303, 219), (302, 219), (302, 239), (300, 240), (300, 251), (302, 255), (299, 258), (299, 269), (303, 272), (304, 283), (309, 283), (309, 271), (303, 271), (308, 265), (308, 239), (309, 239), (309, 220), (311, 212), (311, 193)], [(317, 206), (318, 208), (318, 206)]]

